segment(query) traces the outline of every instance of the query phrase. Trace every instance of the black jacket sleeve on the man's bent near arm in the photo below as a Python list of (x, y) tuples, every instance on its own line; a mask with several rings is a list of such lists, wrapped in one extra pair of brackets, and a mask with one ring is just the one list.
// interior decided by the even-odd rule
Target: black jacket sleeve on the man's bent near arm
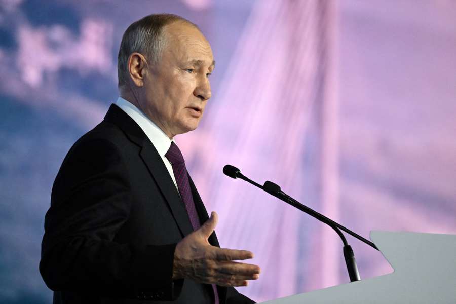
[(137, 247), (114, 241), (132, 204), (126, 164), (106, 139), (80, 140), (57, 174), (45, 217), (40, 272), (54, 290), (172, 300), (176, 244)]

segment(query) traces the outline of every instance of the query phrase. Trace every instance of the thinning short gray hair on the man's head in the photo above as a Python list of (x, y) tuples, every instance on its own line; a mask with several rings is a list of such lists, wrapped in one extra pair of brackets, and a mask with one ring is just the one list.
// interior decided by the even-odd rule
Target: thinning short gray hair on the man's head
[(198, 26), (187, 19), (174, 14), (153, 14), (145, 16), (138, 21), (133, 22), (122, 36), (122, 42), (119, 48), (117, 58), (117, 75), (119, 78), (119, 87), (128, 84), (128, 58), (134, 52), (141, 53), (151, 63), (156, 64), (160, 60), (161, 53), (166, 46), (166, 37), (162, 34), (165, 25), (174, 22), (185, 22)]

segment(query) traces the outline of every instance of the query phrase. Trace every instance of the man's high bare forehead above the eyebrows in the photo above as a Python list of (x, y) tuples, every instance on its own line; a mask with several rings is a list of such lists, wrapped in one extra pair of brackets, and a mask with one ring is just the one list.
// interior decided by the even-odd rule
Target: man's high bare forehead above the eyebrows
[(177, 60), (198, 61), (211, 65), (214, 58), (209, 42), (198, 28), (184, 22), (175, 22), (163, 29), (166, 37), (165, 54)]

